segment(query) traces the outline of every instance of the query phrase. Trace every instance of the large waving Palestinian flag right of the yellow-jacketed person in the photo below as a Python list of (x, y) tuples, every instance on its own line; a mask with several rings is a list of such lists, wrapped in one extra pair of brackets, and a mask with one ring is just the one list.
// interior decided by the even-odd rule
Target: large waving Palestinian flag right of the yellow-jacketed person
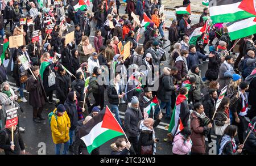
[(79, 137), (86, 144), (89, 154), (110, 139), (125, 134), (108, 106), (82, 126), (78, 132)]

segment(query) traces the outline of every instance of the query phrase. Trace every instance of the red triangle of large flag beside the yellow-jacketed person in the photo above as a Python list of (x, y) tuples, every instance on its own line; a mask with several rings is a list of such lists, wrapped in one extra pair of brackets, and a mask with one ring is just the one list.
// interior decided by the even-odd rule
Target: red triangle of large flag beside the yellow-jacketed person
[(109, 110), (109, 107), (106, 107), (101, 127), (123, 133), (122, 127), (118, 124), (117, 120), (115, 120), (112, 112)]

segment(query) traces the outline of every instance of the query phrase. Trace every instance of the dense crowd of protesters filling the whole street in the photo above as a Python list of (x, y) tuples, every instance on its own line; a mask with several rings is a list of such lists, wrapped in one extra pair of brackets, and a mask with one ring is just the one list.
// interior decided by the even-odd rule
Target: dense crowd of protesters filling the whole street
[[(177, 104), (181, 105), (179, 116), (184, 129), (175, 131), (173, 139), (167, 139), (172, 143), (172, 154), (207, 154), (205, 137), (210, 143), (212, 135), (217, 135), (217, 154), (256, 154), (256, 46), (253, 35), (241, 39), (238, 43), (240, 55), (236, 57), (228, 52), (234, 41), (230, 41), (223, 24), (213, 25), (210, 40), (205, 40), (209, 34), (203, 32), (195, 45), (189, 44), (189, 15), (176, 15), (177, 19), (166, 28), (164, 16), (159, 14), (162, 3), (158, 0), (127, 0), (126, 14), (119, 13), (119, 0), (93, 0), (92, 11), (75, 10), (71, 5), (73, 1), (63, 0), (60, 5), (48, 2), (42, 7), (34, 0), (1, 1), (1, 37), (6, 41), (10, 36), (23, 35), (22, 46), (3, 52), (2, 62), (14, 63), (11, 74), (7, 74), (6, 66), (0, 61), (3, 111), (0, 148), (5, 154), (25, 154), (20, 134), (25, 130), (20, 127), (22, 124), (14, 127), (13, 143), (10, 143), (11, 129), (4, 129), (3, 124), (6, 110), (20, 107), (18, 103), (27, 101), (32, 107), (34, 123), (46, 120), (42, 112), (47, 111), (47, 104), (55, 105), (55, 110), (47, 112), (51, 114), (49, 130), (55, 154), (60, 154), (61, 144), (64, 144), (62, 154), (69, 154), (69, 151), (77, 155), (88, 154), (78, 133), (81, 126), (106, 108), (105, 97), (128, 138), (118, 138), (111, 145), (113, 155), (157, 154), (159, 139), (154, 127), (163, 117), (172, 121)], [(152, 22), (143, 31), (131, 12), (139, 15), (141, 21), (144, 13)], [(200, 22), (205, 22), (203, 17), (207, 15), (208, 8), (205, 8)], [(25, 24), (20, 23), (22, 18), (26, 18)], [(51, 33), (48, 22), (54, 24)], [(91, 27), (91, 22), (95, 22), (96, 27)], [(65, 43), (72, 27), (75, 27), (75, 39)], [(39, 30), (39, 40), (32, 42), (36, 30)], [(168, 37), (164, 31), (168, 31)], [(138, 33), (144, 39), (143, 46), (138, 43)], [(94, 36), (93, 42), (89, 40), (90, 35)], [(167, 39), (170, 40), (168, 52), (163, 49)], [(119, 49), (119, 43), (130, 43), (128, 57)], [(205, 49), (207, 45), (209, 50)], [(25, 70), (20, 62), (19, 57), (23, 55), (31, 70)], [(209, 60), (205, 75), (201, 75), (200, 59)], [(54, 83), (49, 80), (52, 75), (55, 75)], [(10, 76), (15, 79), (18, 90), (13, 90), (7, 82)], [(88, 88), (85, 88), (86, 79), (89, 79)], [(224, 87), (225, 97), (216, 108)], [(24, 90), (29, 93), (28, 99)], [(53, 100), (53, 93), (59, 102)], [(94, 100), (89, 100), (89, 95)], [(150, 114), (145, 114), (146, 104), (154, 96), (160, 104), (151, 107)], [(124, 121), (119, 118), (121, 104), (127, 105)], [(243, 143), (249, 131), (252, 132)], [(92, 154), (100, 154), (100, 147)]]

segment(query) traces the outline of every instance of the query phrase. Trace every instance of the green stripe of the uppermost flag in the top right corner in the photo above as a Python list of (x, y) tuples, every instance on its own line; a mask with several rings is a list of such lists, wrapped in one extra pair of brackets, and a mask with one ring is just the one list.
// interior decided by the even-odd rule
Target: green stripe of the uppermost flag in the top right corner
[(210, 16), (210, 19), (212, 19), (213, 23), (228, 23), (251, 17), (255, 17), (255, 15), (246, 11), (238, 11), (236, 13)]

